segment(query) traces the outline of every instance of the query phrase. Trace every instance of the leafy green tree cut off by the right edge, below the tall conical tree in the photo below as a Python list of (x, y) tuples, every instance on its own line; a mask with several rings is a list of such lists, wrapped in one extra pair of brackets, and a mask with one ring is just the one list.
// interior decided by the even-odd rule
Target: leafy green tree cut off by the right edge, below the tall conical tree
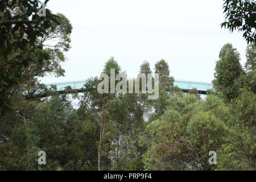
[(232, 104), (232, 113), (234, 115), (234, 129), (232, 144), (236, 146), (238, 154), (243, 155), (247, 160), (248, 170), (255, 169), (254, 161), (256, 159), (255, 132), (256, 132), (256, 96), (252, 92), (243, 90), (240, 97)]

